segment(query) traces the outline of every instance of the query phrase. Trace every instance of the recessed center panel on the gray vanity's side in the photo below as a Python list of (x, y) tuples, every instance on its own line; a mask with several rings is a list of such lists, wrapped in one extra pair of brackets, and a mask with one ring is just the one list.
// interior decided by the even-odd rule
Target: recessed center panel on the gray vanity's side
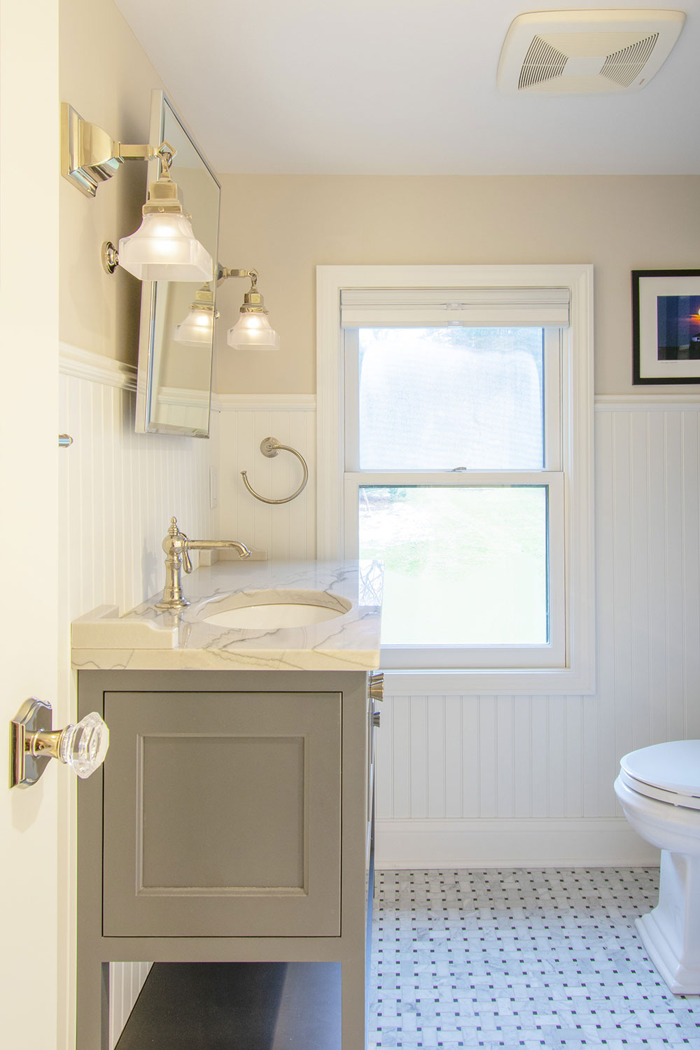
[(305, 889), (303, 737), (144, 736), (141, 765), (144, 890)]

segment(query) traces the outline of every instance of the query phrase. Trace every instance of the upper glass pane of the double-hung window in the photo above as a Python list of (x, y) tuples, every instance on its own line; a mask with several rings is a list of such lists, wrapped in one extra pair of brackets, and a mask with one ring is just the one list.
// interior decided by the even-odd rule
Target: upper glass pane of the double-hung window
[(360, 329), (359, 468), (542, 469), (543, 376), (543, 329)]

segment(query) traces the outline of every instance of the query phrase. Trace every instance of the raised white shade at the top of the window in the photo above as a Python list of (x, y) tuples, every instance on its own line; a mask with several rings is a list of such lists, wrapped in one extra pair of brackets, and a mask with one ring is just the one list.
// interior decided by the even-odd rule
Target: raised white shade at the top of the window
[(568, 288), (343, 289), (343, 328), (568, 328)]

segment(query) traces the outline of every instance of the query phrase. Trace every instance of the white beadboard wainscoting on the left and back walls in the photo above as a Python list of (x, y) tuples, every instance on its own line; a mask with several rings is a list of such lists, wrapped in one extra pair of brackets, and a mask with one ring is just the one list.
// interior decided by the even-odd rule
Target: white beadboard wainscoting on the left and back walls
[[(64, 354), (62, 623), (162, 585), (170, 514), (185, 531), (236, 539), (270, 558), (316, 553), (316, 404), (304, 395), (218, 395), (212, 440), (132, 433), (133, 375)], [(90, 355), (91, 357), (91, 355)], [(73, 362), (72, 364), (70, 362)], [(72, 370), (72, 371), (71, 371)], [(266, 459), (275, 437), (289, 453)], [(591, 696), (391, 695), (377, 734), (378, 865), (624, 865), (656, 855), (617, 810), (619, 757), (700, 737), (700, 398), (596, 402), (597, 691)], [(209, 508), (209, 467), (218, 510)], [(116, 524), (112, 525), (111, 522)], [(67, 667), (60, 706), (75, 711)], [(57, 719), (58, 720), (58, 719)], [(64, 778), (64, 786), (68, 783)], [(65, 786), (71, 812), (75, 785)], [(69, 834), (75, 827), (70, 823)], [(66, 874), (70, 892), (71, 873)], [(141, 988), (114, 971), (112, 1042)], [(141, 982), (141, 983), (140, 983)]]

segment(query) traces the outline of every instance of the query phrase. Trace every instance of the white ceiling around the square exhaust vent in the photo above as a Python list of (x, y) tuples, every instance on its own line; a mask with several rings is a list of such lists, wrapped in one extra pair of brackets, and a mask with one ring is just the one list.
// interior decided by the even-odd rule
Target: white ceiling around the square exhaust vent
[(518, 0), (116, 4), (219, 172), (700, 172), (700, 0), (641, 91), (552, 98), (496, 90)]

